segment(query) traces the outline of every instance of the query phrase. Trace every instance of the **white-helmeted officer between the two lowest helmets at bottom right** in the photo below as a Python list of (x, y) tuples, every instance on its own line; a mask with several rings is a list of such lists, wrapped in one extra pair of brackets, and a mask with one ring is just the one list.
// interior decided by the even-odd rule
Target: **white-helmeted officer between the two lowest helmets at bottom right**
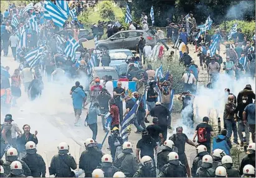
[(233, 159), (229, 155), (222, 157), (221, 164), (227, 168), (227, 177), (240, 177), (239, 171), (232, 167)]

